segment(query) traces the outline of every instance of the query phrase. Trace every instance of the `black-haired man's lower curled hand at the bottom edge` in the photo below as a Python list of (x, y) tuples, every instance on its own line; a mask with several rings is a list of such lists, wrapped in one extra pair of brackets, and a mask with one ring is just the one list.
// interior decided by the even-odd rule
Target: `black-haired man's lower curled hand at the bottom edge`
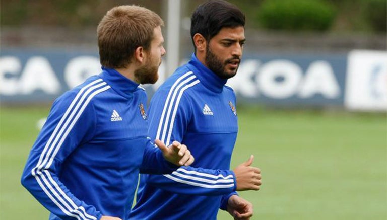
[(252, 204), (237, 195), (232, 195), (228, 199), (227, 211), (235, 220), (249, 220), (253, 212)]

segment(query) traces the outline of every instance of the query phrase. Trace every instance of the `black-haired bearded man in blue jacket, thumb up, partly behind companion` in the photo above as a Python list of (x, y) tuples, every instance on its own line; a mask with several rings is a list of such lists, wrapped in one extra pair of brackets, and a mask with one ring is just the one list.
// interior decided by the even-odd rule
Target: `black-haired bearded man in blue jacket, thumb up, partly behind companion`
[[(169, 175), (141, 175), (130, 219), (208, 220), (216, 219), (219, 208), (235, 219), (252, 216), (252, 204), (234, 190), (260, 188), (261, 171), (250, 166), (253, 157), (234, 172), (225, 171), (238, 131), (235, 94), (225, 84), (235, 76), (242, 57), (244, 23), (243, 13), (221, 0), (206, 2), (193, 12), (195, 53), (153, 96), (149, 135), (167, 145), (180, 141), (190, 146), (196, 158), (192, 166), (206, 169), (192, 172), (183, 166)], [(244, 189), (238, 178), (242, 168), (251, 172), (247, 179), (252, 185)]]

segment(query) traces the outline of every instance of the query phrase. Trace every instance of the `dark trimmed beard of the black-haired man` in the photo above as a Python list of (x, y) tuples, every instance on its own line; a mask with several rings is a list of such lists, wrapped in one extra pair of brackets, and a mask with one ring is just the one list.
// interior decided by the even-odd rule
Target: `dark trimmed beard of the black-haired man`
[(236, 75), (239, 64), (235, 70), (226, 70), (226, 65), (232, 60), (236, 59), (238, 59), (240, 62), (239, 56), (233, 56), (232, 58), (226, 59), (224, 62), (222, 62), (222, 60), (212, 52), (210, 46), (207, 44), (205, 63), (207, 67), (211, 69), (219, 78), (229, 79)]

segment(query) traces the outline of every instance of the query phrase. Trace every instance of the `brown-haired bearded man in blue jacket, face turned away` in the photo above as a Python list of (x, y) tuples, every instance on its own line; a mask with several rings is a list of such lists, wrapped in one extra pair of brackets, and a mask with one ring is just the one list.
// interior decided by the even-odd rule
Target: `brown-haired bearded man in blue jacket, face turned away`
[[(138, 174), (171, 173), (193, 157), (147, 135), (147, 97), (165, 54), (154, 12), (111, 9), (98, 25), (102, 72), (57, 98), (26, 163), (22, 184), (49, 219), (127, 219)], [(114, 217), (113, 217), (114, 216)]]

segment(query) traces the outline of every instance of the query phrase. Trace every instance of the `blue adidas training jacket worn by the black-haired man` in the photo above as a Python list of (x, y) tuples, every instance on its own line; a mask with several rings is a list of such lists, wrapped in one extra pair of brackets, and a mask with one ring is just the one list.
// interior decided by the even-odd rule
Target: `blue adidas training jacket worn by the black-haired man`
[(195, 156), (192, 167), (168, 175), (141, 175), (130, 219), (216, 219), (236, 194), (229, 171), (238, 122), (235, 94), (195, 56), (154, 94), (149, 135), (177, 140)]

